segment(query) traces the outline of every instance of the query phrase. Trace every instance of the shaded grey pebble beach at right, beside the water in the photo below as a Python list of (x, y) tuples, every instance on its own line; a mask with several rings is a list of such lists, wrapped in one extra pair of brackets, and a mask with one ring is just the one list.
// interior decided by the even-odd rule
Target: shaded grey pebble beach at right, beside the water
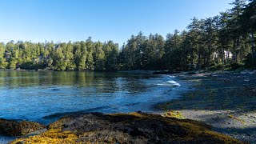
[(182, 118), (214, 126), (218, 133), (256, 143), (255, 71), (181, 74), (179, 78), (194, 82), (193, 90), (156, 105), (158, 114), (178, 112)]

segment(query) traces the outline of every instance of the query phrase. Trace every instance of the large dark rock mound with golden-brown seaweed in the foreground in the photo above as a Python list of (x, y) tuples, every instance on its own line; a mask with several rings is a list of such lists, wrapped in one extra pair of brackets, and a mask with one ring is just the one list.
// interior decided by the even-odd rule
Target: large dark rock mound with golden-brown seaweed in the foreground
[(45, 133), (12, 143), (242, 143), (189, 119), (155, 114), (71, 115), (50, 124)]

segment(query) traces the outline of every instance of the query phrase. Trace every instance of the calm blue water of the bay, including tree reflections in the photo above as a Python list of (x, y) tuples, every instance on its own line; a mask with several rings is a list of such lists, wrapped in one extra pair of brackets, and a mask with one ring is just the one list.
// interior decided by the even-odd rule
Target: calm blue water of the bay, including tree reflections
[(72, 112), (150, 111), (178, 87), (167, 75), (0, 71), (0, 118), (47, 124)]

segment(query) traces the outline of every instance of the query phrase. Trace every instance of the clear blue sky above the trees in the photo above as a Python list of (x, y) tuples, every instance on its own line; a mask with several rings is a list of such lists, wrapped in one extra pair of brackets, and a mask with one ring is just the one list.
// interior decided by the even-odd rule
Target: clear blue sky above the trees
[(233, 0), (0, 0), (0, 42), (113, 40), (122, 45), (140, 30), (173, 33), (193, 17), (230, 9)]

